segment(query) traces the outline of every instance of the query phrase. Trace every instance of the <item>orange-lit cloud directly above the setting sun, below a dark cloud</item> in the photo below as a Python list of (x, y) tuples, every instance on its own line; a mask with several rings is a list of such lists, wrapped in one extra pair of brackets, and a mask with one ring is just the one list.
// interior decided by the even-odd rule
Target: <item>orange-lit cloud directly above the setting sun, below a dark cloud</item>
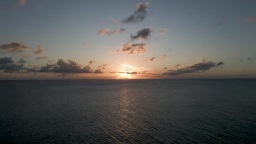
[[(150, 44), (131, 44), (131, 43), (127, 43), (125, 44), (121, 49), (115, 50), (114, 52), (129, 52), (128, 55), (133, 55), (133, 53), (137, 52), (137, 53), (143, 53), (143, 52), (147, 52), (146, 46), (149, 46)], [(112, 52), (112, 50), (110, 50), (109, 52)]]

